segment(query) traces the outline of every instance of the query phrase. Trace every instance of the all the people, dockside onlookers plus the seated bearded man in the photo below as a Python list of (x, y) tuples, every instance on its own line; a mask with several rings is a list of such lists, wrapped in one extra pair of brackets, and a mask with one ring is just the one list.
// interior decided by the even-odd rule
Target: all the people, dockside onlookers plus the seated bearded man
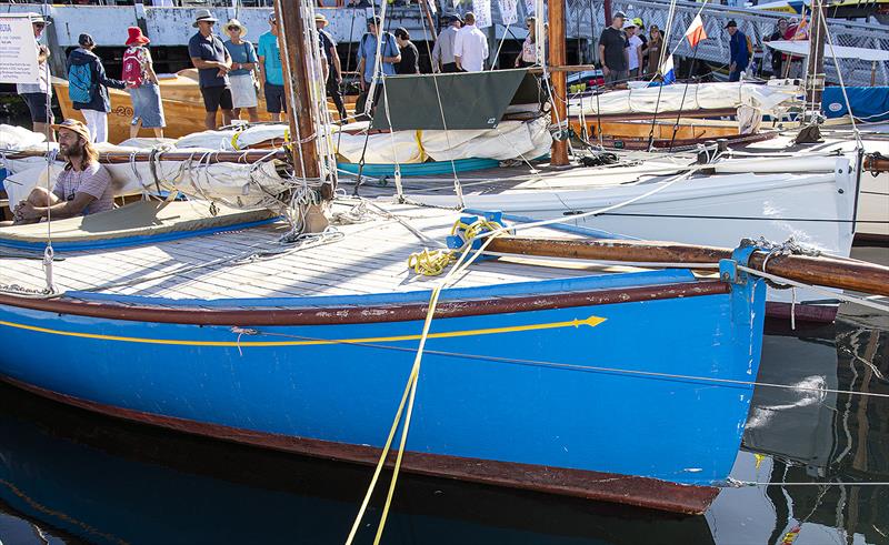
[[(433, 72), (478, 72), (486, 69), (490, 51), (488, 39), (476, 27), (473, 13), (449, 14), (442, 18), (446, 28), (440, 32), (431, 51)], [(248, 29), (237, 19), (230, 19), (222, 28), (222, 34), (214, 32), (218, 20), (209, 10), (196, 13), (193, 27), (197, 30), (188, 43), (192, 65), (198, 70), (198, 85), (203, 99), (208, 130), (217, 128), (221, 113), (223, 124), (246, 114), (247, 121), (259, 121), (259, 97), (264, 98), (267, 112), (274, 121), (287, 112), (284, 77), (279, 50), (278, 20), (272, 13), (268, 19), (269, 29), (259, 36), (257, 44), (247, 40)], [(327, 94), (331, 98), (340, 117), (347, 120), (347, 111), (341, 95), (343, 71), (337, 51), (337, 42), (326, 30), (329, 21), (324, 16), (316, 16), (318, 50)], [(47, 63), (50, 51), (39, 43), (49, 21), (39, 14), (31, 16), (31, 23), (40, 68), (36, 83), (19, 84), (18, 92), (24, 99), (31, 113), (33, 130), (48, 134), (54, 140), (54, 129), (59, 133), (59, 149), (66, 158), (66, 166), (59, 175), (53, 191), (38, 189), (26, 201), (14, 206), (17, 223), (39, 221), (52, 215), (67, 218), (108, 210), (112, 206), (110, 175), (98, 162), (94, 143), (104, 142), (108, 135), (108, 113), (110, 100), (108, 88), (127, 90), (132, 102), (130, 135), (136, 137), (140, 129), (150, 129), (158, 138), (163, 137), (166, 125), (158, 74), (154, 72), (150, 40), (138, 27), (128, 29), (124, 41), (120, 79), (108, 75), (101, 59), (93, 52), (97, 43), (92, 36), (80, 34), (78, 47), (67, 59), (69, 94), (73, 108), (79, 110), (86, 124), (77, 120), (66, 120), (53, 125), (50, 101), (52, 87), (49, 84)], [(526, 20), (527, 38), (516, 57), (515, 67), (529, 67), (537, 59), (537, 20)], [(736, 21), (729, 21), (725, 30), (729, 34), (729, 80), (738, 81), (741, 72), (748, 69), (752, 57), (752, 46), (747, 36), (738, 29)], [(769, 40), (799, 39), (800, 29), (780, 19)], [(660, 29), (651, 24), (647, 29), (639, 18), (630, 19), (622, 12), (615, 13), (611, 24), (599, 38), (599, 59), (606, 83), (618, 83), (633, 79), (651, 78), (659, 71), (663, 54), (663, 37)], [(377, 62), (377, 54), (380, 62)], [(359, 85), (362, 95), (356, 111), (363, 111), (363, 103), (379, 99), (380, 85), (374, 79), (380, 74), (420, 73), (420, 53), (411, 42), (404, 28), (394, 32), (382, 29), (379, 17), (367, 21), (364, 33), (357, 48)], [(793, 75), (799, 58), (775, 53), (771, 70), (777, 75)], [(796, 69), (796, 70), (795, 70)], [(376, 72), (374, 72), (376, 70)]]

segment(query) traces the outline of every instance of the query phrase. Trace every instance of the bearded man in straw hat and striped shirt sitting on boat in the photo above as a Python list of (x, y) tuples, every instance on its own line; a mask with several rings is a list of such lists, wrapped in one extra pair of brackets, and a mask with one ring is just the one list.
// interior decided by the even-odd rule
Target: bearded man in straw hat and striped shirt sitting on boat
[(51, 193), (46, 188), (34, 188), (16, 206), (13, 224), (94, 214), (114, 208), (111, 174), (99, 164), (99, 152), (92, 147), (87, 125), (69, 119), (53, 129), (59, 131), (59, 152), (67, 161), (64, 170)]

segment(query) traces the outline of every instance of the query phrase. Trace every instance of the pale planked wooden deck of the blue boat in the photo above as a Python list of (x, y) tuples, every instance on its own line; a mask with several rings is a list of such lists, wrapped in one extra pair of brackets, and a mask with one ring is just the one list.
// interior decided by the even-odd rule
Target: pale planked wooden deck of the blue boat
[[(333, 212), (344, 212), (349, 208), (336, 204)], [(430, 208), (390, 205), (387, 209), (441, 243), (458, 218), (456, 212)], [(439, 276), (420, 276), (407, 266), (411, 253), (436, 245), (423, 242), (394, 219), (371, 213), (367, 222), (336, 225), (336, 229), (340, 239), (308, 243), (302, 248), (279, 242), (288, 226), (278, 222), (149, 245), (57, 252), (61, 260), (53, 264), (53, 275), (60, 291), (89, 290), (173, 300), (407, 292), (431, 289), (439, 282)], [(535, 232), (569, 236), (545, 229), (528, 231)], [(0, 259), (0, 284), (43, 289), (46, 276), (37, 258), (34, 254), (31, 259)], [(596, 272), (593, 266), (482, 261), (471, 266), (460, 279), (459, 286), (579, 276), (592, 272)]]

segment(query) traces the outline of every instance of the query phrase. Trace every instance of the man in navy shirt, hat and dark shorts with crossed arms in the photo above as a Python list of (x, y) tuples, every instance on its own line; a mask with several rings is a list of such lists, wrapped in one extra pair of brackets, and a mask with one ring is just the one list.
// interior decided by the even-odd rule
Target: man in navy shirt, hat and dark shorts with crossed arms
[(207, 110), (204, 124), (207, 130), (217, 128), (216, 112), (222, 110), (222, 124), (231, 124), (231, 88), (229, 85), (229, 71), (231, 71), (231, 55), (218, 36), (213, 34), (213, 24), (217, 19), (210, 10), (198, 10), (192, 24), (198, 33), (188, 41), (188, 55), (191, 63), (198, 69), (198, 81), (203, 95), (203, 105)]

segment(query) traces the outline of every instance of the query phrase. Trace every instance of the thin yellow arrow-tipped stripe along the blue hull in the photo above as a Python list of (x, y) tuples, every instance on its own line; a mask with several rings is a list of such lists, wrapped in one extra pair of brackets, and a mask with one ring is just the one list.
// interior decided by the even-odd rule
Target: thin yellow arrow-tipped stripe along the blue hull
[[(476, 335), (493, 335), (500, 333), (519, 333), (522, 331), (538, 331), (538, 330), (555, 330), (560, 327), (580, 327), (581, 325), (589, 325), (596, 327), (606, 319), (599, 316), (590, 316), (586, 320), (570, 320), (566, 322), (550, 322), (543, 324), (531, 325), (512, 325), (508, 327), (490, 327), (485, 330), (465, 330), (465, 331), (449, 331), (444, 333), (430, 333), (428, 339), (451, 339), (461, 336), (476, 336)], [(359, 343), (381, 343), (381, 342), (396, 342), (396, 341), (418, 341), (420, 335), (399, 335), (399, 336), (371, 336), (363, 339), (331, 339), (331, 340), (312, 340), (312, 341), (179, 341), (174, 339), (146, 339), (136, 336), (119, 336), (119, 335), (100, 335), (97, 333), (79, 333), (73, 331), (59, 331), (50, 330), (47, 327), (39, 327), (36, 325), (17, 324), (14, 322), (6, 322), (0, 320), (0, 325), (7, 327), (14, 327), (18, 330), (36, 331), (38, 333), (48, 333), (51, 335), (73, 336), (79, 339), (96, 339), (99, 341), (118, 341), (124, 343), (141, 343), (141, 344), (167, 344), (180, 346), (318, 346), (327, 344), (359, 344)]]

